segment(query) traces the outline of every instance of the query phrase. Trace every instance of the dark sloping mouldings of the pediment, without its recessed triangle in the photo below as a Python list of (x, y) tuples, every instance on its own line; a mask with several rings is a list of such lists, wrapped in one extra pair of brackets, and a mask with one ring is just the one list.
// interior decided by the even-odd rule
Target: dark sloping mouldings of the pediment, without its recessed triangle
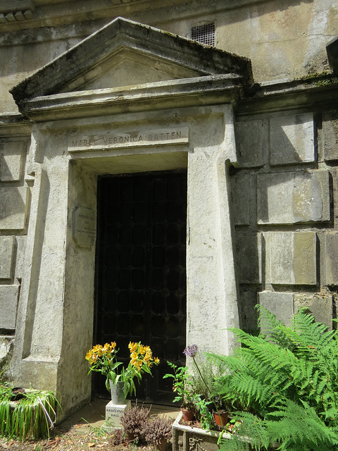
[(121, 49), (161, 59), (196, 76), (233, 73), (242, 76), (244, 83), (252, 81), (248, 58), (118, 17), (32, 73), (11, 94), (20, 105), (25, 99), (77, 90), (64, 87), (82, 74), (93, 73), (93, 68)]

